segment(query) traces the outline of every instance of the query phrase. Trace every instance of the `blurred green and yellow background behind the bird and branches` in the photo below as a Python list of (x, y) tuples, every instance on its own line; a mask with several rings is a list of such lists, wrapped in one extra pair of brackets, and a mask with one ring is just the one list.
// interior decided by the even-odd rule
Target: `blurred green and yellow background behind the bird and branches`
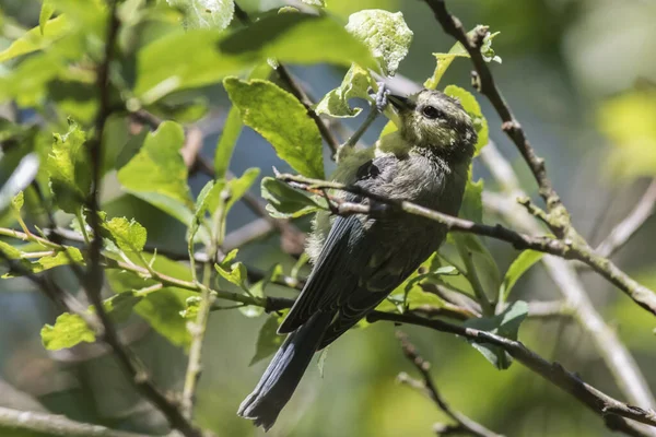
[[(283, 4), (269, 0), (242, 3), (249, 11)], [(431, 54), (446, 51), (453, 45), (421, 1), (327, 3), (344, 20), (361, 9), (402, 11), (414, 40), (400, 73), (418, 82), (433, 71), (435, 61)], [(0, 24), (0, 48), (15, 37), (15, 25), (37, 24), (39, 7), (35, 0), (0, 0), (5, 16)], [(482, 23), (501, 32), (494, 48), (503, 63), (492, 64), (497, 83), (534, 146), (546, 157), (575, 225), (596, 245), (632, 208), (646, 187), (647, 177), (656, 176), (656, 2), (460, 0), (450, 1), (449, 7), (468, 27)], [(456, 61), (444, 84), (470, 87), (469, 70), (469, 62)], [(337, 86), (344, 73), (325, 66), (292, 71), (315, 97)], [(204, 153), (212, 156), (229, 102), (220, 87), (208, 88), (206, 95), (211, 111), (200, 126), (207, 135)], [(535, 193), (535, 182), (501, 133), (496, 115), (487, 102), (481, 104), (492, 140), (514, 164), (524, 187)], [(361, 118), (349, 126), (359, 122)], [(382, 125), (378, 120), (365, 135), (365, 142), (377, 138)], [(270, 174), (271, 165), (281, 165), (270, 146), (248, 129), (242, 134), (232, 163), (235, 174), (251, 166)], [(477, 166), (476, 170), (487, 177), (482, 168)], [(194, 176), (195, 192), (206, 181), (203, 176)], [(494, 184), (487, 181), (487, 188), (494, 188)], [(110, 214), (134, 216), (149, 229), (149, 243), (185, 252), (184, 226), (152, 206), (121, 196), (107, 210)], [(253, 218), (239, 205), (230, 216), (230, 229)], [(495, 220), (488, 217), (490, 222)], [(651, 286), (656, 286), (655, 238), (656, 220), (651, 220), (616, 257), (623, 269)], [(489, 245), (504, 271), (515, 252), (506, 245)], [(288, 267), (294, 262), (280, 250), (278, 236), (245, 248), (242, 255), (262, 269), (276, 262)], [(62, 281), (67, 280), (66, 271), (58, 273)], [(617, 329), (656, 390), (654, 319), (599, 277), (586, 273), (584, 282), (595, 306)], [(560, 298), (540, 265), (518, 283), (516, 293), (516, 298), (525, 300)], [(163, 418), (133, 392), (106, 351), (84, 346), (70, 353), (48, 354), (43, 349), (39, 330), (56, 316), (50, 303), (26, 281), (0, 282), (0, 377), (51, 412), (118, 428), (164, 432)], [(237, 311), (211, 316), (197, 420), (219, 436), (263, 434), (235, 414), (266, 366), (267, 361), (248, 366), (263, 321), (265, 317), (248, 319)], [(159, 383), (179, 389), (186, 366), (183, 351), (139, 320), (122, 329)], [(499, 371), (460, 339), (425, 329), (403, 330), (432, 363), (437, 387), (450, 405), (487, 427), (508, 436), (610, 435), (596, 415), (520, 365)], [(402, 356), (394, 331), (390, 323), (376, 323), (354, 330), (332, 345), (324, 376), (317, 366), (311, 367), (268, 435), (434, 435), (433, 424), (446, 422), (446, 417), (426, 398), (396, 382), (399, 371), (417, 375)], [(529, 320), (522, 328), (520, 340), (622, 399), (591, 341), (575, 322)], [(0, 386), (0, 393), (7, 393), (0, 394), (0, 405), (26, 402), (9, 390)]]

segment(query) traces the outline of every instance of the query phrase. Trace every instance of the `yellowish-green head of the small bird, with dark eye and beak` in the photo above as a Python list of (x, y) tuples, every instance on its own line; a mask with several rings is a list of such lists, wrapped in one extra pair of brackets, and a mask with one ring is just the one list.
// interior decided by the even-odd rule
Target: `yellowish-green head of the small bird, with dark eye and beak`
[(399, 114), (400, 134), (406, 141), (440, 154), (471, 156), (477, 133), (471, 117), (458, 101), (434, 90), (388, 98)]

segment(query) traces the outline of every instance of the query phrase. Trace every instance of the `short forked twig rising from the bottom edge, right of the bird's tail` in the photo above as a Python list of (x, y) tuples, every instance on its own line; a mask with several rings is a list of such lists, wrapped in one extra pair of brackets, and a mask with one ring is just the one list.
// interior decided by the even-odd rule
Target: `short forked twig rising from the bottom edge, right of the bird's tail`
[(478, 437), (502, 437), (501, 435), (485, 428), (483, 425), (472, 421), (467, 417), (465, 414), (455, 411), (450, 408), (450, 405), (444, 400), (440, 391), (437, 390), (437, 386), (435, 386), (435, 381), (431, 377), (431, 364), (426, 362), (417, 351), (417, 347), (408, 340), (408, 335), (405, 333), (397, 331), (397, 338), (401, 342), (401, 349), (403, 350), (403, 354), (414, 365), (417, 370), (421, 374), (423, 381), (414, 382), (412, 379), (408, 377), (407, 374), (399, 374), (398, 378), (401, 382), (409, 382), (412, 387), (417, 387), (421, 391), (423, 391), (436, 405), (440, 410), (442, 410), (447, 416), (456, 422), (456, 425), (449, 425), (446, 429), (442, 429), (440, 434), (446, 435), (448, 433), (455, 434), (467, 434), (471, 436)]

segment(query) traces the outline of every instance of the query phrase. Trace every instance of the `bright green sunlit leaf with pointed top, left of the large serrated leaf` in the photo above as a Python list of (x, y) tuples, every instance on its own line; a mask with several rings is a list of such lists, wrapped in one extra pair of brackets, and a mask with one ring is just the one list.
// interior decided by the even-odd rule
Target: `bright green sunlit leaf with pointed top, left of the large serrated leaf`
[(118, 180), (131, 194), (189, 225), (194, 202), (187, 185), (187, 166), (180, 154), (184, 142), (183, 128), (164, 121), (148, 134), (139, 153), (118, 170)]

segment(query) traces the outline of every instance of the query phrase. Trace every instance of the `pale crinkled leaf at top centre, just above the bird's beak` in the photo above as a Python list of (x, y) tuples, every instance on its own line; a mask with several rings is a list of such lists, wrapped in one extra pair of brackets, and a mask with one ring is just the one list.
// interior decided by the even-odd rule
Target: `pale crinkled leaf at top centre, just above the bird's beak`
[(363, 42), (385, 75), (395, 75), (412, 43), (412, 31), (401, 12), (368, 9), (349, 16), (347, 31)]

